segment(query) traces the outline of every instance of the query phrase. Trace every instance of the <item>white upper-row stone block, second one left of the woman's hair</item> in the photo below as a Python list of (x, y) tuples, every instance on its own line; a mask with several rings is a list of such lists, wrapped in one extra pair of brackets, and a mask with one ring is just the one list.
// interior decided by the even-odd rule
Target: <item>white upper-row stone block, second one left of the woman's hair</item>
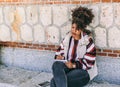
[(40, 6), (40, 20), (44, 26), (50, 25), (52, 23), (52, 10), (51, 6)]

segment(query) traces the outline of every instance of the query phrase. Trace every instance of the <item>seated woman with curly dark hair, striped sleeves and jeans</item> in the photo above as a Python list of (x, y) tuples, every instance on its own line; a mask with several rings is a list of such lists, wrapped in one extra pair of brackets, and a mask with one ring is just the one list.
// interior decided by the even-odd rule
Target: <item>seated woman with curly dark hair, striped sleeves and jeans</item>
[(97, 75), (95, 45), (85, 29), (93, 17), (92, 11), (85, 7), (72, 11), (71, 32), (55, 55), (51, 87), (82, 87)]

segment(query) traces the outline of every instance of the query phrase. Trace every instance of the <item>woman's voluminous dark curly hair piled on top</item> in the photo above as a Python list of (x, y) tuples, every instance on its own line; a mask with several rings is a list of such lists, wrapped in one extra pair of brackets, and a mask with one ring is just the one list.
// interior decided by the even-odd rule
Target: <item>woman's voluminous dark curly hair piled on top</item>
[(91, 9), (86, 7), (78, 7), (72, 10), (72, 24), (77, 25), (77, 29), (81, 29), (86, 33), (90, 33), (85, 28), (92, 22), (94, 15)]

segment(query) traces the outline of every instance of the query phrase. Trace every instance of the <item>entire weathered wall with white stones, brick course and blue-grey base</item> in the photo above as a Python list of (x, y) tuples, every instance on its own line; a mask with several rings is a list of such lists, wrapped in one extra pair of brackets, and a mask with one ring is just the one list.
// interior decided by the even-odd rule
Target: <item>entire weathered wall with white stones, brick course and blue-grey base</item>
[[(51, 72), (54, 52), (50, 51), (55, 51), (70, 31), (71, 9), (81, 5), (73, 3), (0, 5), (2, 63)], [(92, 8), (95, 14), (93, 23), (87, 28), (93, 32), (99, 56), (96, 79), (119, 84), (120, 3), (86, 3), (81, 6)]]

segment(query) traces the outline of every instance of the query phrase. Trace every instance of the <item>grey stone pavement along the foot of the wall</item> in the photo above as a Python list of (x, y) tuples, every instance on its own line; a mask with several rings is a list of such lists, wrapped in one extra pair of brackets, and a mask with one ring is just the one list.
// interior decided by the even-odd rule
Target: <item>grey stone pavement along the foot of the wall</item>
[[(0, 66), (0, 87), (41, 87), (38, 84), (50, 81), (51, 78), (52, 74), (47, 72)], [(120, 85), (91, 81), (85, 87), (120, 87)]]

